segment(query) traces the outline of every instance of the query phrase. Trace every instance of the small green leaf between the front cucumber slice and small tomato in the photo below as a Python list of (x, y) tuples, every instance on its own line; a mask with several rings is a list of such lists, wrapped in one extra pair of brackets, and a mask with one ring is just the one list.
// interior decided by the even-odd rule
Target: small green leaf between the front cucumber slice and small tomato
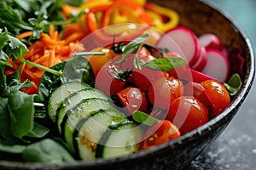
[(147, 113), (143, 111), (134, 111), (132, 114), (132, 118), (134, 121), (152, 126), (156, 122), (160, 122), (159, 119), (154, 118), (153, 116), (149, 116)]

